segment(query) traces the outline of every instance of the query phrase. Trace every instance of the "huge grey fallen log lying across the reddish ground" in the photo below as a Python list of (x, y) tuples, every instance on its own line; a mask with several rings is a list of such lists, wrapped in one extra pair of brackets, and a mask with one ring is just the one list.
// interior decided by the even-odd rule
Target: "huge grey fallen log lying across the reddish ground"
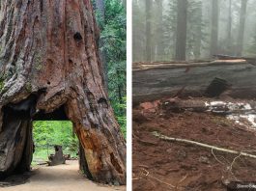
[(202, 96), (214, 78), (230, 84), (226, 95), (241, 98), (256, 96), (256, 67), (245, 60), (217, 60), (195, 63), (133, 64), (133, 102), (154, 100), (163, 96)]

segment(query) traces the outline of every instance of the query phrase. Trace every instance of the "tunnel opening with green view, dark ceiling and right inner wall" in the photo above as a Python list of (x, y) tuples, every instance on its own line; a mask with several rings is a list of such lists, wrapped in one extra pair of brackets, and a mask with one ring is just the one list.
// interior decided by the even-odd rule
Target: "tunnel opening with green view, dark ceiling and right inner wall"
[[(40, 163), (42, 160), (54, 157), (54, 154), (56, 156), (61, 149), (66, 159), (76, 159), (81, 173), (93, 180), (84, 150), (76, 136), (75, 126), (66, 115), (65, 105), (51, 113), (39, 111), (32, 118), (32, 121), (35, 146), (32, 166), (37, 165), (37, 162)], [(54, 163), (54, 159), (52, 161)]]

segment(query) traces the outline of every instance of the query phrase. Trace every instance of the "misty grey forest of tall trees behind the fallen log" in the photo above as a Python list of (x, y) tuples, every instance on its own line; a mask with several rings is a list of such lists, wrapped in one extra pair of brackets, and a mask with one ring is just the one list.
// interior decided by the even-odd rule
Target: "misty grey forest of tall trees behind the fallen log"
[(133, 61), (256, 54), (255, 0), (133, 0)]

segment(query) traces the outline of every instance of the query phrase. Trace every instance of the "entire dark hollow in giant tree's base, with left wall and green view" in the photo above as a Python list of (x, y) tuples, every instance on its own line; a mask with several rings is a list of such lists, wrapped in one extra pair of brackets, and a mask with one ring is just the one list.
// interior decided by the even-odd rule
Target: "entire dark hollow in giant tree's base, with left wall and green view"
[(3, 133), (0, 139), (3, 144), (0, 145), (0, 159), (7, 158), (5, 162), (10, 164), (5, 163), (4, 167), (0, 165), (0, 179), (20, 175), (40, 163), (48, 163), (60, 148), (66, 159), (75, 159), (80, 171), (93, 179), (74, 125), (66, 115), (65, 106), (51, 113), (37, 111), (37, 97), (30, 95), (2, 109)]

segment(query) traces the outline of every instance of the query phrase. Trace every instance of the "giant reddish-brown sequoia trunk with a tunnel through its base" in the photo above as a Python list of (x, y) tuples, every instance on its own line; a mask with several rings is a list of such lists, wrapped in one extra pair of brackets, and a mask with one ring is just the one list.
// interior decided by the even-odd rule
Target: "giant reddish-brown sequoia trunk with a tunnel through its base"
[(104, 91), (90, 1), (0, 1), (0, 28), (0, 176), (28, 170), (34, 116), (65, 108), (87, 176), (125, 184), (126, 143)]

